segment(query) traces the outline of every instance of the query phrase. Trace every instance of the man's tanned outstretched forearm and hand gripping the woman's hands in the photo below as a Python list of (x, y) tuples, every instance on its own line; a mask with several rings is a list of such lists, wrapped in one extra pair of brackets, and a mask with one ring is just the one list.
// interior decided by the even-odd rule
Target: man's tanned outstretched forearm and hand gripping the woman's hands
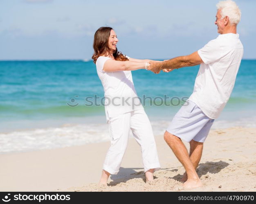
[(162, 69), (167, 69), (172, 71), (173, 69), (178, 69), (181, 67), (191, 67), (203, 63), (202, 59), (198, 55), (198, 51), (186, 56), (180, 56), (167, 60), (164, 62), (151, 62), (149, 70), (154, 73), (159, 73)]

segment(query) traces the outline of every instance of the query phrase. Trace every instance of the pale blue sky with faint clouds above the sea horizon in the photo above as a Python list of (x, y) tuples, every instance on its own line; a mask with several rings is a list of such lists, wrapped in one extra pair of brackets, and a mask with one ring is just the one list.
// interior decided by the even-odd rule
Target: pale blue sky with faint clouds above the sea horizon
[[(0, 60), (90, 59), (94, 32), (113, 27), (132, 58), (190, 54), (218, 36), (219, 0), (0, 0)], [(245, 59), (256, 58), (256, 1), (236, 0)]]

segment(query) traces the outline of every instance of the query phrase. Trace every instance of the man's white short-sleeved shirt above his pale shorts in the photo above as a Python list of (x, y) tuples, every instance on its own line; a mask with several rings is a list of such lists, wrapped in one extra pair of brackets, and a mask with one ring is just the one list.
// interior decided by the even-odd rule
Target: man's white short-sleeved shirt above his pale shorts
[(198, 54), (200, 64), (189, 100), (209, 118), (216, 119), (227, 104), (243, 57), (239, 34), (227, 33), (208, 42)]

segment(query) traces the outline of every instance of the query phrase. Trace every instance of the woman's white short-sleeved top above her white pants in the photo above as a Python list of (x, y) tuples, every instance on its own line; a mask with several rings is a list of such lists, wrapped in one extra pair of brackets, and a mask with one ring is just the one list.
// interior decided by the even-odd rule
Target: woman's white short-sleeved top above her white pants
[(105, 92), (105, 112), (109, 118), (135, 110), (144, 109), (135, 91), (131, 71), (103, 71), (108, 57), (100, 56), (96, 61), (97, 74)]

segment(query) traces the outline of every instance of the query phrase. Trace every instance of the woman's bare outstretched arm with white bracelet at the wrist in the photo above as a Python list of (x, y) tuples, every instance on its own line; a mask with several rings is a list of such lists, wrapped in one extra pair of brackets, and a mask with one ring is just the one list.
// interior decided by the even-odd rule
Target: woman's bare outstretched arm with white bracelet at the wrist
[(145, 62), (136, 61), (117, 61), (117, 60), (107, 60), (103, 66), (103, 71), (113, 72), (113, 71), (132, 71), (137, 69), (146, 69), (150, 67), (150, 64)]

